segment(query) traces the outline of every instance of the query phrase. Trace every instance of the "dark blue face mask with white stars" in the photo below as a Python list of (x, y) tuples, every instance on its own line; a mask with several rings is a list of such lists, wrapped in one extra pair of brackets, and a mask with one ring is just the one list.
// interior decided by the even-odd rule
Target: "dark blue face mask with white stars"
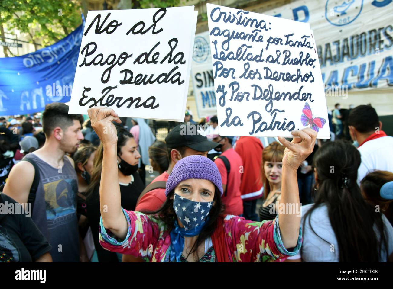
[(185, 231), (200, 227), (208, 216), (213, 202), (195, 202), (173, 194), (173, 209), (182, 222)]

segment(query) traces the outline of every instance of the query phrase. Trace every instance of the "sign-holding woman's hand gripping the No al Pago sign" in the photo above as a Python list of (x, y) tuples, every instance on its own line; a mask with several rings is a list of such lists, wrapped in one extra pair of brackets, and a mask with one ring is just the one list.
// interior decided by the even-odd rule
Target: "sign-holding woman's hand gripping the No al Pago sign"
[(112, 121), (121, 123), (118, 114), (112, 108), (92, 107), (87, 110), (92, 128), (103, 145), (116, 144), (118, 135)]

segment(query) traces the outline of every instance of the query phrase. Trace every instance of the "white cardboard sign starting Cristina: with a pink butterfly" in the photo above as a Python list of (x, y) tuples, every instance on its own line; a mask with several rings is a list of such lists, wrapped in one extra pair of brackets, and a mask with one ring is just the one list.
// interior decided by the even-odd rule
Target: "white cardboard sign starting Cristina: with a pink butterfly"
[(330, 138), (310, 25), (207, 4), (220, 135)]

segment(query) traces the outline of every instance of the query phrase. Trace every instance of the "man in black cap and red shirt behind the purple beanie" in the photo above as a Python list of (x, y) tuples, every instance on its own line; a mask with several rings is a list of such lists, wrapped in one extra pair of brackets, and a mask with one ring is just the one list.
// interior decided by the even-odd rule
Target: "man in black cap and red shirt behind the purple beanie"
[(141, 193), (136, 205), (136, 211), (153, 212), (161, 208), (165, 202), (165, 182), (172, 172), (173, 166), (182, 158), (189, 155), (208, 156), (208, 151), (222, 146), (209, 141), (197, 132), (195, 124), (179, 124), (165, 137), (167, 143), (169, 167), (156, 177)]

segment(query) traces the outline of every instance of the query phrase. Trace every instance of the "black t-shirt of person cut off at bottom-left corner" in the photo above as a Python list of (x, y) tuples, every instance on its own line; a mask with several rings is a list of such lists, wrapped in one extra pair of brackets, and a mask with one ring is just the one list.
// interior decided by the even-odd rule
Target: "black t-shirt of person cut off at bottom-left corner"
[(20, 210), (18, 202), (0, 193), (0, 262), (32, 262), (51, 249), (33, 220)]

